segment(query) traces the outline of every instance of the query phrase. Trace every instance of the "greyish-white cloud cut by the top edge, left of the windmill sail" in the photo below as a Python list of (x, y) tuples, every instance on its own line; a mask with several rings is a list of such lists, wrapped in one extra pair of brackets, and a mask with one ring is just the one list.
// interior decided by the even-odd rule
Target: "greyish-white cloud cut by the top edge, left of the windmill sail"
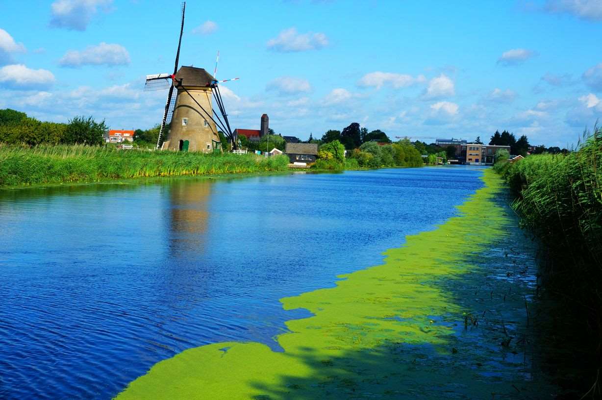
[(113, 0), (57, 0), (52, 3), (50, 26), (85, 31), (97, 8), (108, 10)]

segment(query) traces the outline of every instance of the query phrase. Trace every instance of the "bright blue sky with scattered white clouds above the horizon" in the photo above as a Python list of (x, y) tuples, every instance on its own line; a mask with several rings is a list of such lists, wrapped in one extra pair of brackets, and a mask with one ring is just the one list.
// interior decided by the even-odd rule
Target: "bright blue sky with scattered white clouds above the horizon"
[[(0, 5), (0, 108), (111, 128), (160, 122), (179, 1)], [(23, 13), (27, 17), (23, 18)], [(188, 1), (181, 65), (222, 86), (233, 128), (306, 139), (359, 122), (389, 137), (526, 134), (566, 146), (602, 117), (602, 0)]]

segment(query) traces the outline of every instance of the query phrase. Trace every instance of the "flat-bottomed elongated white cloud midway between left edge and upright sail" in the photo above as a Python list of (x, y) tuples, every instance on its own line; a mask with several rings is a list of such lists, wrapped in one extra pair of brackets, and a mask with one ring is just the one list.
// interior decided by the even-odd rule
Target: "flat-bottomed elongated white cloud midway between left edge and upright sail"
[(84, 51), (69, 50), (58, 63), (65, 67), (126, 65), (129, 64), (129, 53), (122, 45), (102, 42), (97, 46), (88, 46)]

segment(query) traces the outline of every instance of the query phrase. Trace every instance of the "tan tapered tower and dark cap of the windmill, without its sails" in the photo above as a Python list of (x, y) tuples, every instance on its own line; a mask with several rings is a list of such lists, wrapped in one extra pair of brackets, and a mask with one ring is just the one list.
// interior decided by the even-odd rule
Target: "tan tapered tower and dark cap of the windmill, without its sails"
[(175, 75), (178, 96), (161, 149), (205, 153), (222, 151), (216, 124), (211, 120), (212, 81), (213, 77), (202, 68), (182, 66), (178, 70)]

